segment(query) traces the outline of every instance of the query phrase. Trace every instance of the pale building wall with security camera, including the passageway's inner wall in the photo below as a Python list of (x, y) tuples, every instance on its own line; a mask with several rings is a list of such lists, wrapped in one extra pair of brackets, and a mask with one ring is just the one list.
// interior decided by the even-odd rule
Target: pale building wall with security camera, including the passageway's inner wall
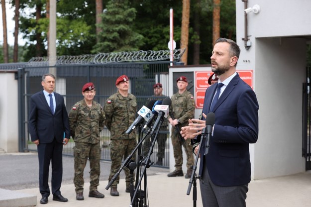
[[(311, 35), (311, 1), (249, 0), (251, 47), (244, 47), (244, 2), (236, 1), (238, 70), (254, 70), (259, 102), (259, 138), (250, 146), (252, 179), (305, 171), (302, 157), (302, 87), (306, 80), (306, 39)], [(309, 10), (308, 10), (309, 9)], [(288, 37), (291, 36), (291, 37)]]

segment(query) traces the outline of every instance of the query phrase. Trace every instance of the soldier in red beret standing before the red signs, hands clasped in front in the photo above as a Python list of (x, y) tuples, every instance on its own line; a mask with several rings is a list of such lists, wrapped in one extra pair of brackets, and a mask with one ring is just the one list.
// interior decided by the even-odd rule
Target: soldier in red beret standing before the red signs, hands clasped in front
[[(192, 166), (194, 165), (194, 156), (192, 154), (192, 146), (190, 140), (184, 140), (180, 136), (182, 126), (188, 126), (188, 120), (195, 116), (195, 102), (193, 95), (187, 91), (188, 80), (185, 76), (179, 77), (177, 80), (178, 93), (172, 96), (172, 104), (168, 115), (168, 120), (172, 125), (172, 145), (175, 158), (175, 171), (169, 173), (168, 177), (184, 176), (183, 151), (182, 145), (187, 154), (187, 173), (185, 178), (190, 178)], [(177, 130), (179, 128), (179, 130)]]

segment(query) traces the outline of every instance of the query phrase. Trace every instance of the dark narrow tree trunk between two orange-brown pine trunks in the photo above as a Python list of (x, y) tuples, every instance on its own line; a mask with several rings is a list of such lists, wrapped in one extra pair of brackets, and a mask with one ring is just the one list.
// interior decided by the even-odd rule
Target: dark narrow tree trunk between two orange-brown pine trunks
[[(201, 0), (196, 0), (196, 10), (194, 15), (194, 31), (198, 35), (199, 39), (195, 41), (193, 44), (193, 64), (194, 65), (200, 65), (200, 13), (201, 13), (201, 6), (200, 4)], [(200, 9), (198, 11), (198, 9)]]

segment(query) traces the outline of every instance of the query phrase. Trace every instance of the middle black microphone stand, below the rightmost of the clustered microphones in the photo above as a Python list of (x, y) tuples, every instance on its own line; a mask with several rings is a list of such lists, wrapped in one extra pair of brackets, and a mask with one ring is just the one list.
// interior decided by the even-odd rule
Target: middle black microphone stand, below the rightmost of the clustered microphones
[[(146, 173), (146, 169), (149, 168), (149, 167), (153, 164), (153, 162), (150, 162), (150, 156), (151, 156), (151, 154), (152, 154), (152, 152), (153, 152), (153, 147), (154, 147), (154, 145), (155, 145), (155, 143), (156, 143), (156, 141), (157, 141), (157, 137), (158, 137), (158, 134), (159, 134), (159, 131), (160, 131), (160, 128), (161, 128), (162, 123), (163, 123), (163, 118), (160, 120), (160, 123), (159, 123), (159, 126), (158, 126), (157, 130), (156, 130), (155, 135), (154, 135), (154, 134), (151, 135), (151, 136), (152, 136), (152, 137), (151, 137), (152, 142), (151, 142), (151, 146), (150, 146), (149, 151), (148, 151), (148, 155), (147, 155), (147, 157), (143, 160), (143, 162), (142, 162), (142, 164), (141, 164), (141, 165), (144, 165), (144, 168), (143, 168), (143, 171), (142, 171), (142, 173), (141, 173), (141, 176), (140, 176), (138, 182), (137, 182), (137, 180), (136, 180), (136, 189), (135, 189), (133, 198), (136, 197), (136, 194), (138, 193), (138, 188), (141, 186), (141, 181), (142, 181), (142, 179), (144, 178), (144, 199), (145, 199), (145, 205), (144, 205), (144, 207), (147, 207), (147, 205), (146, 205), (146, 204), (147, 204), (147, 191), (146, 191), (146, 190), (147, 190), (147, 173)], [(149, 133), (150, 133), (150, 129), (148, 130), (146, 136), (147, 136)], [(144, 137), (144, 139), (146, 138), (146, 136)], [(137, 169), (137, 174), (138, 174), (138, 169)], [(132, 198), (132, 200), (131, 200), (130, 207), (133, 207), (133, 203), (134, 203), (134, 199), (133, 199), (133, 198)]]

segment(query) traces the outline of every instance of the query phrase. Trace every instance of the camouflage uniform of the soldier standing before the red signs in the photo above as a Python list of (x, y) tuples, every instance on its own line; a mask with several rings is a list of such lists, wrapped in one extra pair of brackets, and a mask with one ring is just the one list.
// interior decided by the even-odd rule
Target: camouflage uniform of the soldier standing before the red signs
[[(176, 93), (172, 96), (172, 104), (170, 107), (170, 114), (174, 115), (180, 122), (179, 127), (188, 126), (188, 120), (195, 116), (195, 102), (193, 95), (185, 91), (183, 94)], [(170, 115), (168, 116), (168, 119)], [(174, 150), (175, 168), (176, 170), (182, 170), (183, 165), (183, 151), (182, 144), (177, 134), (175, 127), (172, 127), (172, 145)], [(194, 165), (194, 156), (192, 154), (192, 146), (189, 139), (185, 140), (183, 144), (187, 154), (187, 168), (191, 169)]]

